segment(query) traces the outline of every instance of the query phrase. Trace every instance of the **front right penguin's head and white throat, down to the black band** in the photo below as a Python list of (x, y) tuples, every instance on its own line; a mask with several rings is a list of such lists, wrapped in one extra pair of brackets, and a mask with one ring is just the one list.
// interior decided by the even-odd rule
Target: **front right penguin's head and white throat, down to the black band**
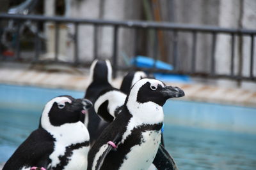
[[(127, 109), (136, 124), (163, 123), (163, 105), (167, 99), (184, 96), (179, 87), (166, 86), (162, 81), (143, 78), (131, 88), (125, 99)], [(124, 111), (124, 114), (127, 113)]]

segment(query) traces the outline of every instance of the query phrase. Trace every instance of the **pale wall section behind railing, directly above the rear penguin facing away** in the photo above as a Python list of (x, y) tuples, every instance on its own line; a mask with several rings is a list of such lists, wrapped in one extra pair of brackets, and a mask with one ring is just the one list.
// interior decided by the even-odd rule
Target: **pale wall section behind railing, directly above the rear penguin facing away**
[[(134, 5), (136, 4), (136, 5)], [(100, 18), (104, 20), (138, 20), (140, 19), (140, 3), (136, 1), (72, 1), (67, 17), (73, 18)], [(73, 25), (70, 25), (70, 33), (74, 33)], [(82, 60), (93, 59), (93, 27), (88, 25), (79, 26), (79, 57)], [(110, 58), (113, 55), (113, 27), (105, 26), (98, 29), (98, 55), (99, 58)], [(132, 55), (131, 29), (120, 29), (118, 34), (118, 59), (122, 62), (122, 53)], [(69, 55), (73, 53), (73, 46), (68, 48)]]

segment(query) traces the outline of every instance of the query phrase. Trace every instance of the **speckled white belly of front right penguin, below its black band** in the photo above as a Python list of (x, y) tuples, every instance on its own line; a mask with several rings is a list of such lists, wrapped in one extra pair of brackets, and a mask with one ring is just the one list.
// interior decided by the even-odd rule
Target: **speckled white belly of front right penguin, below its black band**
[(142, 133), (141, 143), (132, 146), (120, 169), (148, 169), (152, 164), (161, 142), (161, 131)]

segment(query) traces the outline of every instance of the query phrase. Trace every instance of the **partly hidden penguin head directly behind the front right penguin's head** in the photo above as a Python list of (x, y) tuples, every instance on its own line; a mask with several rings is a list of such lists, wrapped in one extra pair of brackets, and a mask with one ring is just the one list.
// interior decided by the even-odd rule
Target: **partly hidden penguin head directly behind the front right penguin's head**
[(130, 71), (126, 76), (124, 76), (120, 87), (121, 92), (128, 94), (134, 83), (136, 83), (138, 80), (141, 80), (141, 78), (146, 77), (147, 74), (144, 71)]

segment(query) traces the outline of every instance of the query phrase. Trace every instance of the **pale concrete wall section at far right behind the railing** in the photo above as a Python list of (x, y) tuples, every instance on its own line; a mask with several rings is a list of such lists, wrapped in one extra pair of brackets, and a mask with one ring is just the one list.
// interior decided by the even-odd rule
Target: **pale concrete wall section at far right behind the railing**
[[(220, 27), (256, 29), (256, 1), (253, 0), (228, 0), (220, 1)], [(235, 74), (249, 76), (250, 74), (250, 37), (235, 38)], [(256, 48), (256, 45), (255, 45)], [(255, 54), (254, 54), (255, 55)], [(231, 36), (218, 36), (216, 46), (216, 69), (218, 73), (230, 73), (231, 64)], [(241, 64), (241, 67), (239, 67)], [(254, 66), (256, 62), (254, 60)], [(253, 73), (256, 74), (256, 67)], [(236, 87), (240, 85), (244, 89), (256, 88), (255, 83), (243, 81), (234, 83), (232, 81), (220, 80), (218, 85)]]

